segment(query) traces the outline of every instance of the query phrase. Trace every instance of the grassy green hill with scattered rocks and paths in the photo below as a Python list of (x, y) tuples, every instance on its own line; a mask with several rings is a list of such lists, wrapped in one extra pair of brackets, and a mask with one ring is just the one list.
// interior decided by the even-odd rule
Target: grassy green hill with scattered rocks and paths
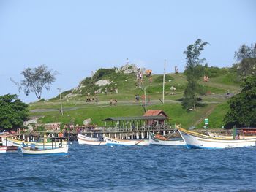
[[(135, 101), (135, 95), (143, 95), (143, 88), (146, 88), (146, 96), (150, 99), (148, 109), (165, 110), (170, 117), (171, 124), (181, 124), (184, 128), (196, 126), (202, 128), (202, 120), (209, 118), (211, 128), (223, 126), (222, 119), (227, 111), (228, 104), (226, 93), (239, 93), (239, 84), (235, 82), (236, 74), (229, 69), (208, 68), (209, 82), (200, 82), (206, 94), (200, 96), (203, 107), (197, 107), (194, 112), (187, 112), (182, 109), (180, 99), (183, 96), (187, 80), (184, 74), (166, 74), (165, 76), (165, 104), (162, 99), (162, 74), (153, 74), (152, 84), (148, 77), (143, 77), (141, 88), (136, 87), (136, 76), (124, 74), (113, 69), (99, 69), (93, 77), (87, 77), (80, 82), (78, 88), (64, 91), (61, 96), (64, 107), (64, 115), (59, 112), (59, 96), (49, 101), (39, 101), (30, 104), (31, 116), (40, 116), (40, 123), (62, 122), (83, 124), (83, 120), (91, 118), (93, 123), (103, 126), (103, 119), (114, 116), (136, 116), (143, 115), (144, 108), (141, 101)], [(99, 80), (108, 80), (108, 85), (95, 85)], [(176, 90), (170, 90), (175, 87)], [(118, 94), (114, 91), (118, 88)], [(108, 93), (105, 94), (105, 89)], [(110, 93), (113, 90), (113, 93)], [(88, 93), (94, 95), (97, 91), (98, 102), (86, 102)], [(117, 106), (110, 106), (110, 99), (117, 99)]]

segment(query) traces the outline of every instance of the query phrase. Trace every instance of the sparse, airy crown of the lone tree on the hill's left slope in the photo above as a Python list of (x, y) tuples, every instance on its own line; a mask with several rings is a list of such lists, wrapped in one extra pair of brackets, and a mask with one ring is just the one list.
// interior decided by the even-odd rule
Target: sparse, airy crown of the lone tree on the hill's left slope
[(50, 90), (50, 85), (56, 80), (55, 76), (57, 72), (52, 72), (48, 70), (47, 66), (41, 65), (35, 68), (26, 68), (21, 72), (23, 74), (24, 80), (21, 80), (20, 83), (14, 82), (20, 89), (23, 88), (26, 96), (30, 92), (34, 92), (38, 99), (41, 99), (42, 89)]

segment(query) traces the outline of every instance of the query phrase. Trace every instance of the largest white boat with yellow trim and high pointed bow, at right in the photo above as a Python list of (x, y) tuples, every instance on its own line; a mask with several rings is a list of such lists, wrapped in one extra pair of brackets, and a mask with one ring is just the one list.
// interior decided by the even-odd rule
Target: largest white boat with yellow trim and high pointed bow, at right
[(178, 128), (181, 137), (187, 145), (187, 148), (199, 149), (225, 149), (235, 147), (252, 147), (256, 145), (255, 139), (227, 139), (223, 137), (210, 137), (198, 134), (194, 131), (188, 131), (184, 128)]

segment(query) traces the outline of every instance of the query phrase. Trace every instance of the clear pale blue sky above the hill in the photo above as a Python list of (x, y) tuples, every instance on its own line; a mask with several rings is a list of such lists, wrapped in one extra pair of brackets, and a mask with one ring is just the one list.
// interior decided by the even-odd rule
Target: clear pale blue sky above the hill
[(60, 73), (45, 99), (127, 58), (155, 74), (165, 59), (167, 72), (183, 71), (183, 51), (197, 38), (210, 43), (202, 54), (209, 66), (232, 66), (240, 45), (256, 42), (256, 1), (0, 0), (0, 95), (37, 101), (10, 77), (20, 81), (24, 68), (41, 64)]

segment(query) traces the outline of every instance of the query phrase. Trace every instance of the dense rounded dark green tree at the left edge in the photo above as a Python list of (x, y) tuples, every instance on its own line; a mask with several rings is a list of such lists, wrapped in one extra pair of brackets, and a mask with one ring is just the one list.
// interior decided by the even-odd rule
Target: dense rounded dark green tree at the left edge
[(10, 129), (23, 126), (28, 120), (28, 105), (18, 99), (18, 95), (0, 96), (0, 128)]

